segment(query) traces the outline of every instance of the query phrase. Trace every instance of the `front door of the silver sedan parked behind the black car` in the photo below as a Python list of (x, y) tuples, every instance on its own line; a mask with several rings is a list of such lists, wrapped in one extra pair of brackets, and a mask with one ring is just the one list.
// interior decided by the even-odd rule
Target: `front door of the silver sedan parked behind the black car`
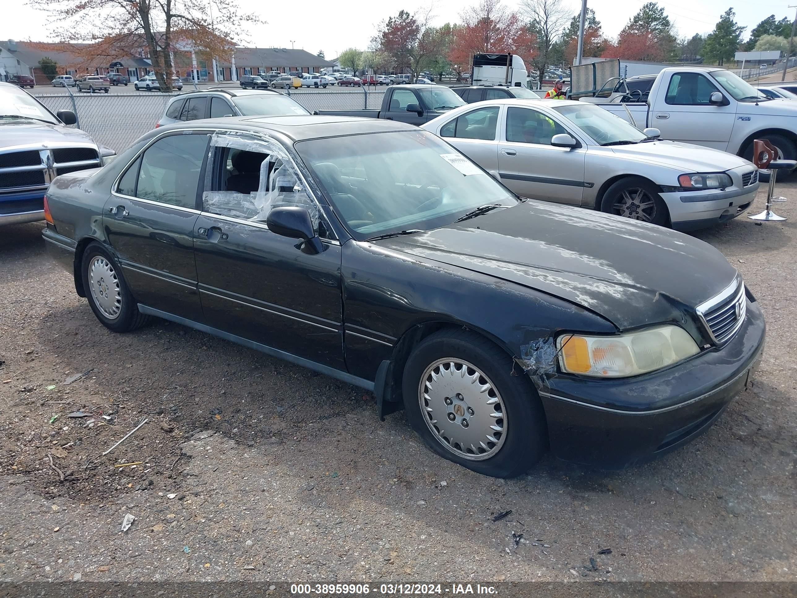
[(521, 197), (581, 205), (586, 148), (551, 145), (566, 128), (539, 110), (509, 106), (501, 133), (501, 183)]

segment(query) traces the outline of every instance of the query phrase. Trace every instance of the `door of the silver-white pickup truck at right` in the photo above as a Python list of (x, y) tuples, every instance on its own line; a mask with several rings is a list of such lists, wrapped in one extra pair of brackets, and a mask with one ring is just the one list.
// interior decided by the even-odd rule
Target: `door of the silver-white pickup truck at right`
[[(652, 112), (649, 127), (658, 128), (662, 139), (705, 145), (725, 151), (736, 120), (736, 106), (709, 104), (713, 92), (721, 92), (703, 73), (674, 73), (669, 79), (661, 110)], [(723, 92), (724, 96), (727, 96)], [(662, 106), (657, 101), (657, 106)]]

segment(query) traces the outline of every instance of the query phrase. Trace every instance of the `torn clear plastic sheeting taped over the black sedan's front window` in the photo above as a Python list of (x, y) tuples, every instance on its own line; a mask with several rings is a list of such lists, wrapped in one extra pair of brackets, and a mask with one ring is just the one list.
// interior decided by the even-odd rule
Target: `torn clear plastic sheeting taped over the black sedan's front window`
[[(304, 180), (292, 159), (277, 141), (258, 140), (234, 133), (217, 133), (210, 140), (208, 163), (213, 163), (215, 148), (232, 148), (265, 154), (260, 166), (260, 181), (253, 194), (238, 191), (205, 191), (202, 203), (206, 211), (233, 218), (265, 222), (273, 207), (304, 207), (314, 226), (318, 226), (319, 207), (310, 198)], [(213, 183), (213, 172), (207, 169), (206, 188)]]

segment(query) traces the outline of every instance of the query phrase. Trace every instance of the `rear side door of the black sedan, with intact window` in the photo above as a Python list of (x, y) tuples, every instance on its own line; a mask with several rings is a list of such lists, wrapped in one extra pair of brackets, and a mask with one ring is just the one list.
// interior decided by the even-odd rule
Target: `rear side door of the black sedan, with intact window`
[(180, 132), (155, 141), (125, 171), (103, 214), (135, 300), (190, 320), (202, 317), (194, 222), (208, 140)]

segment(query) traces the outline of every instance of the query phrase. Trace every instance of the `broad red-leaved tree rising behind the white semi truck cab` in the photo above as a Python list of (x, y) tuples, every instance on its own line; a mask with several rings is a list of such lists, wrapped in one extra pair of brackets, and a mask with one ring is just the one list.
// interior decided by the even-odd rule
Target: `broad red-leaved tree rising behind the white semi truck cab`
[(449, 60), (461, 73), (470, 68), (476, 53), (515, 53), (529, 64), (536, 57), (536, 37), (520, 14), (501, 5), (501, 0), (481, 0), (460, 14), (453, 30)]

